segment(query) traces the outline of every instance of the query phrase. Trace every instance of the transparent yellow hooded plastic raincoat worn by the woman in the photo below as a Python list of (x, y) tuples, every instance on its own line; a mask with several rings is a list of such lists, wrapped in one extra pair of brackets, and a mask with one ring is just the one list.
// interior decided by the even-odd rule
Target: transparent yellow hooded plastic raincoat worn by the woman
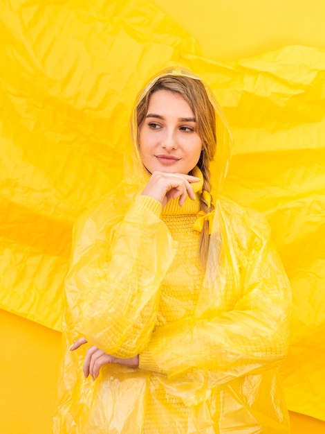
[[(177, 68), (165, 73), (196, 78)], [(133, 114), (124, 181), (75, 226), (55, 433), (289, 432), (277, 370), (287, 351), (288, 279), (266, 221), (221, 196), (231, 137), (207, 92), (217, 121), (216, 210), (196, 303), (190, 315), (187, 306), (186, 315), (158, 325), (161, 287), (183, 253), (159, 212), (137, 202), (147, 175)], [(192, 287), (194, 265), (181, 267)], [(84, 379), (87, 345), (69, 351), (81, 336), (113, 356), (139, 354), (139, 367), (105, 365), (95, 381)]]

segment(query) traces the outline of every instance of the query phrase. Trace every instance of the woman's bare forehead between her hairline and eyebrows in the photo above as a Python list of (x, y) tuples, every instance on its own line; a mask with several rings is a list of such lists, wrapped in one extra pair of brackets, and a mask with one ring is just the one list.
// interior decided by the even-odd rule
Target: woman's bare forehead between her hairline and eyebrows
[(175, 113), (180, 117), (194, 116), (192, 108), (182, 95), (166, 89), (160, 89), (151, 94), (147, 114), (151, 112), (156, 114)]

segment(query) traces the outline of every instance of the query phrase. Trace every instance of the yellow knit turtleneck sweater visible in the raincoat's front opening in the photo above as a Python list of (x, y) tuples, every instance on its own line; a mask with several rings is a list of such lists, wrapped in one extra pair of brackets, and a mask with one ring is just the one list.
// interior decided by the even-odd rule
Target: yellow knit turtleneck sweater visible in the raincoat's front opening
[[(200, 208), (199, 195), (203, 187), (203, 177), (198, 168), (195, 169), (194, 175), (201, 178), (200, 182), (192, 184), (196, 200), (187, 198), (182, 207), (178, 205), (178, 199), (171, 200), (161, 212), (161, 205), (156, 200), (147, 196), (137, 198), (142, 205), (146, 205), (155, 214), (160, 215), (171, 236), (178, 243), (174, 261), (161, 286), (155, 330), (176, 320), (191, 318), (202, 286), (203, 271), (198, 257), (200, 232), (194, 230), (193, 225)], [(188, 264), (191, 264), (190, 275), (187, 271)], [(149, 349), (140, 354), (139, 367), (154, 374), (149, 379), (152, 386), (150, 389), (154, 390), (154, 394), (150, 394), (147, 400), (144, 433), (187, 432), (190, 410), (178, 397), (169, 394), (160, 384), (156, 374), (164, 375), (164, 372), (154, 362)], [(173, 415), (169, 420), (166, 419), (164, 410), (166, 405)]]

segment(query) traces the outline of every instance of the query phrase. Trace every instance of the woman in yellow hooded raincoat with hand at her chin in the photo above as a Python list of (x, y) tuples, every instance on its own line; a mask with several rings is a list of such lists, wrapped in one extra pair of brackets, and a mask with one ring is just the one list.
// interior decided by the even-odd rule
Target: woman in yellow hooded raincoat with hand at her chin
[(75, 228), (55, 433), (289, 432), (288, 280), (265, 221), (220, 195), (230, 142), (192, 73), (140, 94), (133, 168)]

